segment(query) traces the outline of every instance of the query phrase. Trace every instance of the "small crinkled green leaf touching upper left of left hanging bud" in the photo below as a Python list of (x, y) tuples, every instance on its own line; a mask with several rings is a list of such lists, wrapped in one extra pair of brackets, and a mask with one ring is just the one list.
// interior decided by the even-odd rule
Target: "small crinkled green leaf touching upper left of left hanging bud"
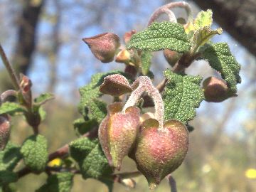
[(90, 108), (90, 119), (96, 119), (97, 122), (100, 124), (102, 119), (104, 119), (107, 115), (107, 104), (102, 102), (101, 100), (92, 100), (89, 104)]

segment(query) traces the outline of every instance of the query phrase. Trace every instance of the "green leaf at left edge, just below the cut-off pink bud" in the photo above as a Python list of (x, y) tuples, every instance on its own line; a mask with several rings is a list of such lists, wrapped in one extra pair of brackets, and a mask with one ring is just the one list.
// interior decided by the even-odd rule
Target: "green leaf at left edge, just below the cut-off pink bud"
[(4, 151), (0, 151), (0, 171), (14, 170), (21, 158), (20, 147), (8, 142)]

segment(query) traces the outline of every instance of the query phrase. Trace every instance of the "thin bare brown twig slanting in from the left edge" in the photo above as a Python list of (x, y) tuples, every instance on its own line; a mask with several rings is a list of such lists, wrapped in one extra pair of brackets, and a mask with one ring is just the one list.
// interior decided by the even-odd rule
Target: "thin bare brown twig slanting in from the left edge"
[(17, 75), (14, 72), (14, 68), (12, 68), (11, 63), (9, 63), (9, 60), (7, 59), (6, 54), (4, 53), (4, 49), (2, 48), (1, 43), (0, 43), (0, 55), (1, 55), (1, 59), (3, 60), (4, 66), (6, 67), (6, 70), (10, 75), (11, 81), (14, 84), (15, 89), (19, 90), (20, 87), (19, 87), (19, 81), (18, 81)]

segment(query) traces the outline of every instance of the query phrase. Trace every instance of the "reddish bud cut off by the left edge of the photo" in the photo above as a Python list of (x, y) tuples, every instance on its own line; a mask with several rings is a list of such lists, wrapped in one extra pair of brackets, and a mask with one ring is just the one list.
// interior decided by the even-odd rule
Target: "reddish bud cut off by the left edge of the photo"
[(4, 150), (10, 136), (11, 124), (7, 115), (0, 116), (0, 150)]

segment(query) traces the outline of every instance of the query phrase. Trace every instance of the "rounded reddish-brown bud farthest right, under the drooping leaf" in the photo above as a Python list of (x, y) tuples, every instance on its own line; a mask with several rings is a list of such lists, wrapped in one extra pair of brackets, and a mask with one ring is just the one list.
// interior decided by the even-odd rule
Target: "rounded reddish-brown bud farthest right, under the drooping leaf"
[(228, 86), (223, 80), (215, 77), (203, 81), (205, 100), (208, 102), (223, 102), (228, 98)]

